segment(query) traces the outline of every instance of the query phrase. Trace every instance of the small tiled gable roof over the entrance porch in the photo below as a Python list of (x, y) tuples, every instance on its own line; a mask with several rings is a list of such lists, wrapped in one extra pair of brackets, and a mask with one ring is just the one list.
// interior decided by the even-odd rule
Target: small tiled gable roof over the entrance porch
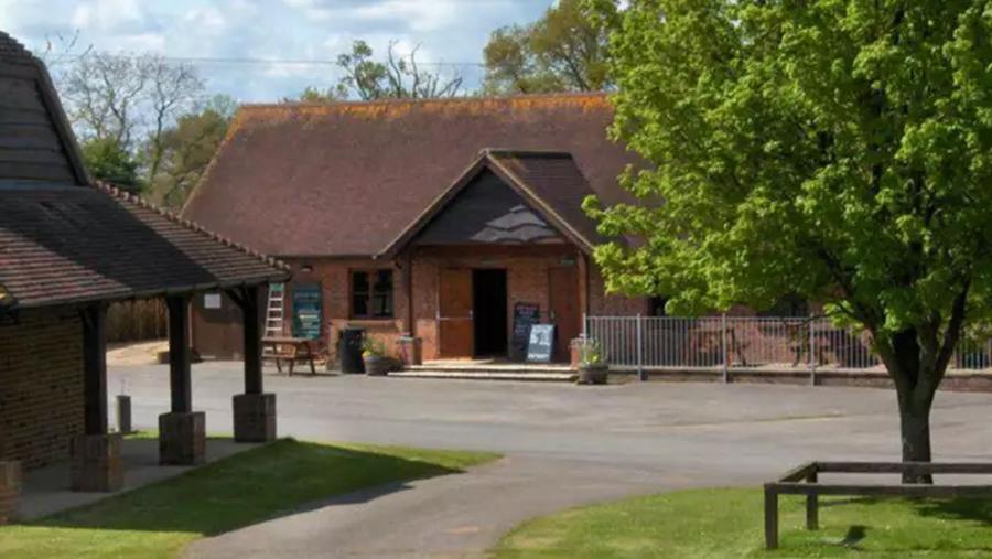
[(591, 252), (595, 244), (604, 240), (595, 222), (581, 208), (582, 201), (594, 191), (570, 153), (486, 149), (379, 256), (396, 255), (405, 248), (484, 170), (502, 179), (528, 206), (582, 250)]

